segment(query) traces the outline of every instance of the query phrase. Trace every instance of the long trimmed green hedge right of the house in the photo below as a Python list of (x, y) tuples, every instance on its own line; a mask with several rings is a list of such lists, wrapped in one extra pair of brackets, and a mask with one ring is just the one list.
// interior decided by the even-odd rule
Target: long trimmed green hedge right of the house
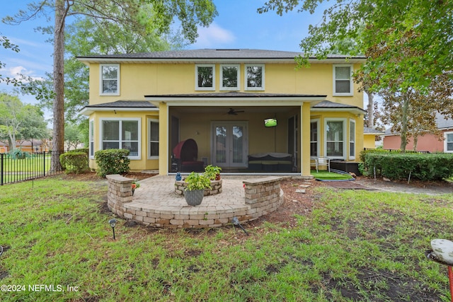
[(363, 174), (391, 180), (442, 180), (453, 176), (453, 154), (362, 151)]

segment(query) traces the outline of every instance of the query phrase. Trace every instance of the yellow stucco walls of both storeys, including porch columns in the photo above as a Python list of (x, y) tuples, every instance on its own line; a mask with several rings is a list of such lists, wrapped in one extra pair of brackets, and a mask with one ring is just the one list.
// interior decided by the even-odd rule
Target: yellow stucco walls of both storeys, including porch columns
[[(185, 94), (185, 93), (215, 93), (219, 91), (219, 70), (221, 64), (215, 64), (215, 90), (214, 91), (195, 91), (195, 64), (120, 64), (120, 95), (99, 95), (100, 88), (100, 64), (90, 64), (90, 105), (110, 103), (117, 100), (144, 100), (144, 95), (166, 95), (166, 94)], [(348, 105), (363, 106), (363, 94), (357, 92), (357, 84), (354, 84), (355, 92), (352, 96), (333, 96), (333, 65), (324, 63), (311, 64), (309, 68), (296, 69), (295, 64), (264, 64), (265, 66), (265, 90), (264, 91), (245, 91), (244, 90), (244, 67), (240, 64), (240, 92), (249, 93), (289, 93), (302, 95), (327, 95), (326, 100), (344, 103)], [(354, 69), (359, 67), (354, 65)], [(225, 92), (225, 91), (223, 91)], [(238, 103), (240, 106), (240, 103)], [(198, 145), (198, 158), (207, 157), (212, 163), (211, 139), (212, 121), (222, 120), (246, 120), (248, 122), (248, 153), (260, 152), (281, 152), (287, 153), (287, 121), (292, 115), (299, 115), (299, 135), (298, 141), (299, 156), (302, 158), (302, 175), (309, 175), (309, 122), (312, 119), (319, 119), (319, 132), (324, 132), (324, 121), (326, 118), (338, 117), (346, 119), (345, 141), (347, 147), (347, 159), (349, 156), (349, 119), (355, 120), (357, 136), (355, 138), (355, 160), (358, 160), (368, 140), (365, 141), (363, 133), (363, 116), (354, 115), (350, 112), (311, 112), (310, 104), (304, 103), (302, 108), (292, 108), (289, 112), (278, 113), (278, 126), (265, 128), (263, 120), (274, 117), (269, 113), (253, 113), (238, 116), (222, 114), (207, 115), (178, 115), (180, 118), (180, 140), (195, 139)], [(171, 156), (171, 146), (168, 141), (168, 107), (166, 103), (161, 103), (159, 113), (150, 112), (96, 112), (90, 116), (95, 120), (96, 139), (94, 141), (95, 151), (101, 149), (101, 139), (99, 138), (99, 120), (103, 117), (139, 117), (141, 119), (141, 159), (131, 160), (131, 170), (157, 169), (161, 174), (168, 173), (168, 161)], [(147, 159), (147, 138), (148, 125), (147, 118), (159, 118), (159, 160)], [(322, 135), (321, 135), (322, 138)], [(319, 141), (321, 154), (324, 154), (324, 143)], [(374, 136), (373, 136), (374, 148)], [(308, 155), (307, 155), (308, 154)], [(91, 168), (96, 168), (94, 160), (90, 160)]]

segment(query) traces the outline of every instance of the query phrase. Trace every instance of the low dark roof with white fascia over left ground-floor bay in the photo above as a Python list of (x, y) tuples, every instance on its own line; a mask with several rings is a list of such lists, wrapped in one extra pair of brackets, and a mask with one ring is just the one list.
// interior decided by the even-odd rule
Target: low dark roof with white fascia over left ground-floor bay
[(116, 100), (110, 103), (87, 105), (81, 110), (82, 115), (90, 115), (94, 111), (158, 111), (153, 104), (147, 100)]

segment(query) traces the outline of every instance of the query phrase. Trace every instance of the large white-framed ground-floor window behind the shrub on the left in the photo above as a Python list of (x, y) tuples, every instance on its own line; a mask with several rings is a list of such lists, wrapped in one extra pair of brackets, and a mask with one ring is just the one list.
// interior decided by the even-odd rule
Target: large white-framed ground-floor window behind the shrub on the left
[(101, 149), (127, 149), (140, 159), (140, 119), (101, 119)]

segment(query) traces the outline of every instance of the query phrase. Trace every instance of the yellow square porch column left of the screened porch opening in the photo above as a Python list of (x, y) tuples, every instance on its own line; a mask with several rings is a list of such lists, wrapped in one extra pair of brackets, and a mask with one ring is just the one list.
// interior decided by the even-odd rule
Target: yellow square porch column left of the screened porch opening
[(168, 106), (159, 103), (159, 175), (168, 175)]

